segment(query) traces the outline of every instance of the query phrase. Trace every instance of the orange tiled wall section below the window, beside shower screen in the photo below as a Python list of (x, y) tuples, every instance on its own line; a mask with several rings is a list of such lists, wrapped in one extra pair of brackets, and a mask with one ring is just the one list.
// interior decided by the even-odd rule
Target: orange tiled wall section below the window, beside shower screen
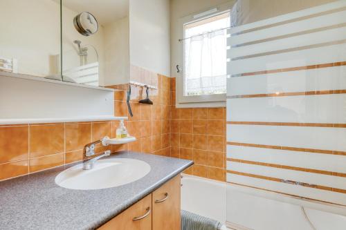
[(185, 173), (224, 181), (226, 108), (176, 108), (175, 78), (171, 86), (171, 156), (194, 160)]

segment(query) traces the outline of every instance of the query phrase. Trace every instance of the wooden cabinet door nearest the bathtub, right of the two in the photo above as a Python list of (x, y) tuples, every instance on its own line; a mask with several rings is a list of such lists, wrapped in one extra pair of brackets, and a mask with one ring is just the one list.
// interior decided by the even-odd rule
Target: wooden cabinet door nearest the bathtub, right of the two
[(180, 230), (180, 175), (152, 193), (152, 229)]

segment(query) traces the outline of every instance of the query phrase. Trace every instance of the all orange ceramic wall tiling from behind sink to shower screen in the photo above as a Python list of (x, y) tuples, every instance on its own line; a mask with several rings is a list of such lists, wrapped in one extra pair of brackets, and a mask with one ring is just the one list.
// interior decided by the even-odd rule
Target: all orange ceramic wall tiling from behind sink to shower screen
[[(131, 108), (127, 111), (125, 86), (114, 93), (116, 116), (129, 116), (125, 122), (137, 141), (108, 147), (194, 160), (185, 173), (224, 180), (226, 160), (226, 108), (175, 108), (175, 79), (156, 75), (150, 90), (154, 105), (139, 104), (143, 88), (132, 86)], [(146, 79), (147, 80), (147, 79)], [(128, 86), (127, 86), (128, 87)], [(0, 180), (26, 175), (82, 160), (85, 144), (104, 136), (115, 137), (118, 122), (74, 122), (0, 126)]]

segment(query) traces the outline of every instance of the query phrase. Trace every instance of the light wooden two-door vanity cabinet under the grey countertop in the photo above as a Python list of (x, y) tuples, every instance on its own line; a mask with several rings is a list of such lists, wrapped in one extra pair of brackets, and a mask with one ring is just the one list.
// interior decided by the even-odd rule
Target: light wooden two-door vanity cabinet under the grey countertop
[(136, 202), (100, 230), (178, 230), (181, 228), (180, 183), (177, 175)]

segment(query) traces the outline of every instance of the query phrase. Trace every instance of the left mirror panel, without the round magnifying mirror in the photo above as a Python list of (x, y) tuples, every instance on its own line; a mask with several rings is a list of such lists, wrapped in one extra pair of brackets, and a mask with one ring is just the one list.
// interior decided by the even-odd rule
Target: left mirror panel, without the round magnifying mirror
[(0, 74), (60, 79), (60, 0), (0, 0)]

